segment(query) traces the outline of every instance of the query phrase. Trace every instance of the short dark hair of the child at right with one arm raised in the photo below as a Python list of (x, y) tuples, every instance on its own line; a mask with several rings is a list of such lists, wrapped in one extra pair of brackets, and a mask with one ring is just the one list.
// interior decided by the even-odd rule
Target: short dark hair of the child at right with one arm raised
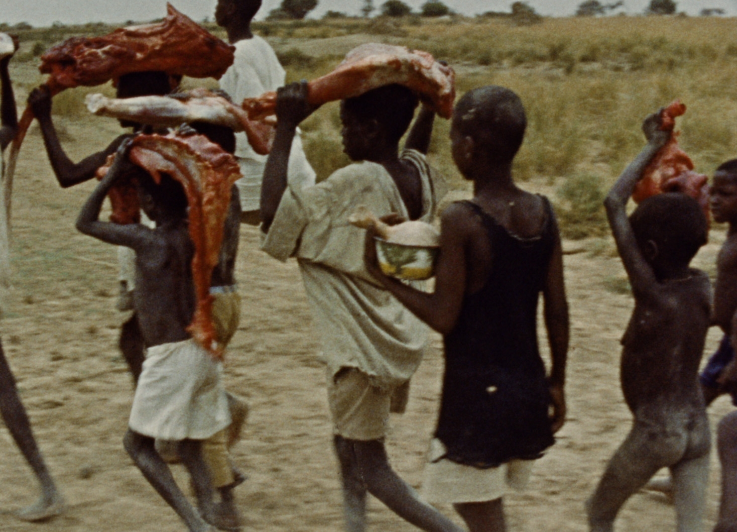
[(678, 192), (642, 201), (629, 216), (629, 224), (640, 249), (653, 241), (670, 263), (688, 264), (707, 242), (708, 222), (699, 202)]

